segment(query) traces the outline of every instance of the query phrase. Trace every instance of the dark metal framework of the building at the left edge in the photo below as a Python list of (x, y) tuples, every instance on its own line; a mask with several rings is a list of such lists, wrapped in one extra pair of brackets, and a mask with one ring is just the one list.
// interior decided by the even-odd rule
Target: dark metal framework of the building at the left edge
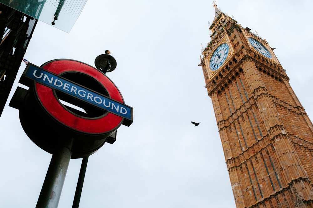
[(0, 116), (37, 21), (0, 3)]

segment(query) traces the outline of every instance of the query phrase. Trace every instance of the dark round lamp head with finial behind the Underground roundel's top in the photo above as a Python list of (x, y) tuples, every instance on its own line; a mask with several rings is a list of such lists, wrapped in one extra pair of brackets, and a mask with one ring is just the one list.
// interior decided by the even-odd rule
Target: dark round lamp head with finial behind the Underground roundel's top
[(110, 51), (106, 50), (105, 54), (97, 56), (95, 59), (95, 66), (102, 73), (111, 72), (116, 68), (116, 60), (110, 55)]

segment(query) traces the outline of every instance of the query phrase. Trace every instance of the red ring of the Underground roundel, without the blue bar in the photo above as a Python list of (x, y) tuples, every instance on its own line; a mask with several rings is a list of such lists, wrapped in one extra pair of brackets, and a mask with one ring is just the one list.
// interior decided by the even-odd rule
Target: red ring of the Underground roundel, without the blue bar
[[(42, 68), (57, 75), (65, 71), (78, 71), (90, 75), (105, 87), (111, 99), (124, 103), (122, 95), (114, 83), (90, 65), (75, 60), (54, 60), (43, 65)], [(78, 117), (62, 107), (55, 98), (52, 88), (36, 83), (35, 90), (47, 112), (59, 122), (74, 130), (85, 133), (105, 133), (118, 128), (122, 123), (122, 117), (110, 112), (98, 119)]]

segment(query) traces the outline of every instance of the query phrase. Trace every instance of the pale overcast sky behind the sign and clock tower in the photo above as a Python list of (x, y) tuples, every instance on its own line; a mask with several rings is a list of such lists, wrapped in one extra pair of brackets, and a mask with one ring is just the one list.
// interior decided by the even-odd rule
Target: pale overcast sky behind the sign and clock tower
[[(291, 86), (313, 115), (313, 2), (216, 3), (276, 48)], [(198, 66), (213, 17), (212, 1), (207, 0), (88, 0), (70, 33), (38, 22), (27, 60), (42, 65), (66, 58), (94, 65), (95, 57), (108, 49), (117, 68), (107, 75), (134, 108), (131, 126), (121, 126), (114, 144), (89, 157), (80, 208), (235, 207), (212, 102)], [(22, 63), (11, 96), (22, 86), (17, 82), (25, 67)], [(194, 127), (190, 121), (201, 123)], [(0, 207), (35, 207), (51, 155), (26, 136), (18, 110), (8, 103), (0, 127)], [(70, 161), (60, 208), (72, 206), (80, 164), (81, 159)]]

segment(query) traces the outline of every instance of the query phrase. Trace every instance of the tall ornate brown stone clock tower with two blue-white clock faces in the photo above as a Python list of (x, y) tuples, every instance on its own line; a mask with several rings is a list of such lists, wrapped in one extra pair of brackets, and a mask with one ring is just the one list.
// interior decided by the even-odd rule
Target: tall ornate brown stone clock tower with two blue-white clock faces
[(312, 122), (267, 41), (214, 7), (199, 65), (236, 206), (312, 208)]

